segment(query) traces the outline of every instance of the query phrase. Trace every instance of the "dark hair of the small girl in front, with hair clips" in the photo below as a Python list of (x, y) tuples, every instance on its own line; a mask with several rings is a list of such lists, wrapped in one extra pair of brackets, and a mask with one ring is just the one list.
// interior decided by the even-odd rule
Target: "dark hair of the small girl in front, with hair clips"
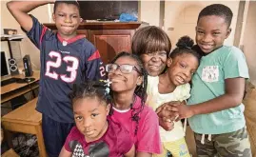
[(81, 84), (73, 84), (72, 91), (69, 93), (69, 98), (72, 104), (83, 98), (96, 98), (100, 102), (105, 102), (106, 105), (112, 103), (111, 96), (108, 93), (108, 85), (101, 81), (87, 81)]

